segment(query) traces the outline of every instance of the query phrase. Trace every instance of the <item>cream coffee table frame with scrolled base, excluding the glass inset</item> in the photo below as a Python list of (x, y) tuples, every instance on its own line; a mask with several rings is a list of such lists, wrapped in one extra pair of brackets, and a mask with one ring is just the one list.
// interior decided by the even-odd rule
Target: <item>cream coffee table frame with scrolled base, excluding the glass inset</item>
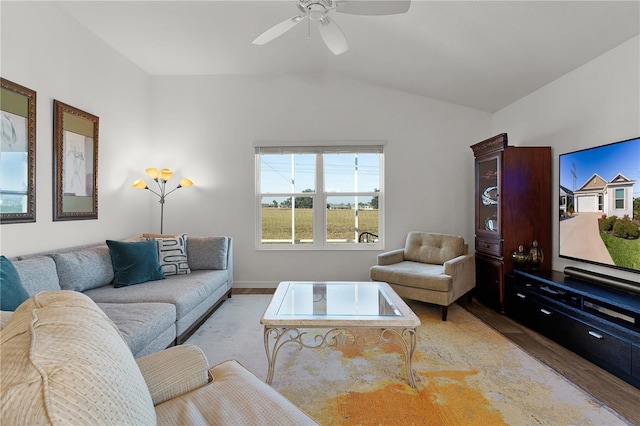
[[(398, 315), (279, 314), (278, 311), (287, 290), (297, 284), (377, 285), (387, 300), (397, 309)], [(281, 282), (260, 319), (260, 324), (264, 325), (264, 348), (269, 365), (266, 380), (268, 384), (273, 381), (278, 352), (288, 343), (297, 345), (299, 350), (318, 348), (323, 345), (338, 348), (357, 346), (367, 349), (383, 344), (393, 344), (402, 350), (407, 380), (412, 387), (416, 387), (412, 358), (416, 348), (416, 327), (420, 325), (420, 319), (387, 283)], [(314, 332), (314, 329), (317, 330)], [(365, 329), (368, 333), (365, 332)], [(371, 330), (376, 329), (379, 329), (379, 333), (372, 335)], [(361, 331), (363, 331), (362, 334)], [(271, 343), (270, 338), (273, 338)]]

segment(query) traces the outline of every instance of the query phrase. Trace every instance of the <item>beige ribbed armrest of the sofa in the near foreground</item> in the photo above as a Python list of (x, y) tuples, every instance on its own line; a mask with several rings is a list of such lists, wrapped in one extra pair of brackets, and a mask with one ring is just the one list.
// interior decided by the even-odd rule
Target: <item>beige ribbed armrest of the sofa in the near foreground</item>
[(209, 363), (197, 346), (173, 346), (136, 361), (151, 393), (153, 405), (190, 392), (209, 382)]

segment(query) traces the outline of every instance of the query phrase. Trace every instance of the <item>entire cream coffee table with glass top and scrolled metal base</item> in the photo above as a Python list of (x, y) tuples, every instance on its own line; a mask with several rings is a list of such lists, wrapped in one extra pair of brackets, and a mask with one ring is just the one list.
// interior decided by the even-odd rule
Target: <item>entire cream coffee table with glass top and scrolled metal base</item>
[[(407, 380), (416, 387), (411, 360), (420, 319), (387, 283), (281, 282), (260, 324), (264, 325), (268, 384), (278, 351), (287, 343), (299, 348), (363, 349), (393, 344), (402, 349)], [(372, 329), (379, 330), (373, 338)]]

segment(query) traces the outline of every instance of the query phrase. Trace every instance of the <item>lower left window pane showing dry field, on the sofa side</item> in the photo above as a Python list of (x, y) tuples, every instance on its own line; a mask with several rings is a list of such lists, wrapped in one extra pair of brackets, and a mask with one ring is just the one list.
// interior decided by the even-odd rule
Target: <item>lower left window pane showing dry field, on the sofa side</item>
[(313, 243), (311, 197), (262, 197), (262, 244)]

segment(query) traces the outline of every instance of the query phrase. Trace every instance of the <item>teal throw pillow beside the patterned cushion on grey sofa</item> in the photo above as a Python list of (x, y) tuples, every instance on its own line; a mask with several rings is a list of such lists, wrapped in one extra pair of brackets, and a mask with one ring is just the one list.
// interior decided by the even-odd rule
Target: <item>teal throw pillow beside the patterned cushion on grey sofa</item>
[(158, 262), (158, 244), (155, 240), (135, 242), (107, 240), (107, 246), (109, 246), (113, 264), (114, 287), (164, 279)]

